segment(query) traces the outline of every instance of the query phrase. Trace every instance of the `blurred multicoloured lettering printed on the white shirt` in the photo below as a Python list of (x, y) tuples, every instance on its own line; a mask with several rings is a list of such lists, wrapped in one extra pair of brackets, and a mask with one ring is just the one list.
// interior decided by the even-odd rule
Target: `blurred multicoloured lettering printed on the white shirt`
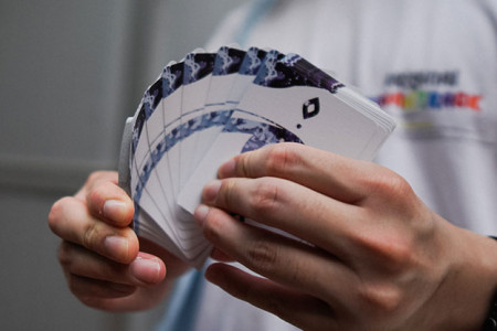
[(469, 78), (457, 70), (391, 72), (370, 98), (395, 117), (399, 134), (496, 141), (487, 100)]

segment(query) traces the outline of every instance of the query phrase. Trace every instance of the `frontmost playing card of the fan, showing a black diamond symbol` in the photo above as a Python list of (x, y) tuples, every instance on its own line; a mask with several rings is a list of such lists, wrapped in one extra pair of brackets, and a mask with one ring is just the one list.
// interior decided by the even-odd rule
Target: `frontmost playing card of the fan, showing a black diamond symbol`
[[(203, 185), (237, 153), (281, 141), (298, 141), (342, 156), (370, 157), (372, 141), (384, 139), (378, 124), (336, 97), (345, 86), (296, 54), (277, 60), (269, 52), (257, 76), (180, 192), (178, 203), (193, 213)], [(266, 57), (267, 57), (266, 56)], [(247, 130), (250, 127), (253, 130)], [(279, 135), (274, 135), (277, 131)], [(254, 135), (247, 137), (248, 132)]]

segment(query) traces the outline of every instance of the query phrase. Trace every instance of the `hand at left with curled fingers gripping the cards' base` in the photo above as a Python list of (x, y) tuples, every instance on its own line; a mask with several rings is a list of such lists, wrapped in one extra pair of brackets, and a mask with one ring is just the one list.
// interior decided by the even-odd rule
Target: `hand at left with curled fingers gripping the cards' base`
[(52, 206), (49, 225), (62, 238), (59, 260), (71, 291), (85, 305), (110, 311), (152, 307), (169, 288), (162, 259), (168, 279), (186, 270), (178, 258), (138, 239), (129, 227), (133, 215), (115, 172), (93, 173), (80, 192)]

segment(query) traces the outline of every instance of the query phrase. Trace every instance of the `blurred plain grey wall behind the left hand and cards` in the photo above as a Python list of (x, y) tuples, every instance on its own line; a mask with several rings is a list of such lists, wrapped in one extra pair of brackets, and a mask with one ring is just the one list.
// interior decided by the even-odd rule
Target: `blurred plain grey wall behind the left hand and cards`
[(68, 291), (46, 215), (116, 169), (121, 130), (171, 60), (246, 0), (0, 0), (0, 329), (149, 330)]

